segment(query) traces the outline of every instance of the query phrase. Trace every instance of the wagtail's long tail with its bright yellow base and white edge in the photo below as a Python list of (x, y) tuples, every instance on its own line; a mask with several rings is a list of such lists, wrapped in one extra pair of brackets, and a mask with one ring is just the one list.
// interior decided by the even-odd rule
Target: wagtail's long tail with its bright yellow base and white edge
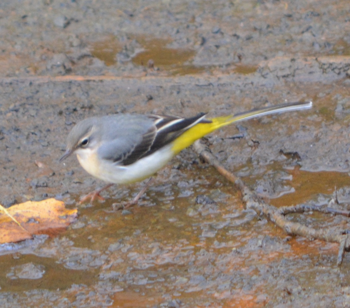
[(187, 131), (185, 131), (181, 136), (177, 137), (173, 143), (172, 150), (175, 153), (179, 153), (184, 148), (187, 148), (192, 143), (194, 143), (197, 139), (202, 138), (203, 136), (209, 134), (210, 132), (234, 122), (239, 122), (243, 120), (252, 119), (254, 117), (281, 113), (287, 111), (295, 111), (295, 110), (303, 110), (309, 109), (312, 107), (312, 102), (294, 102), (294, 103), (286, 103), (282, 105), (277, 105), (274, 107), (264, 107), (260, 109), (253, 109), (247, 112), (238, 113), (229, 116), (216, 117), (212, 119), (208, 119), (211, 123), (198, 123), (195, 126), (191, 127)]

